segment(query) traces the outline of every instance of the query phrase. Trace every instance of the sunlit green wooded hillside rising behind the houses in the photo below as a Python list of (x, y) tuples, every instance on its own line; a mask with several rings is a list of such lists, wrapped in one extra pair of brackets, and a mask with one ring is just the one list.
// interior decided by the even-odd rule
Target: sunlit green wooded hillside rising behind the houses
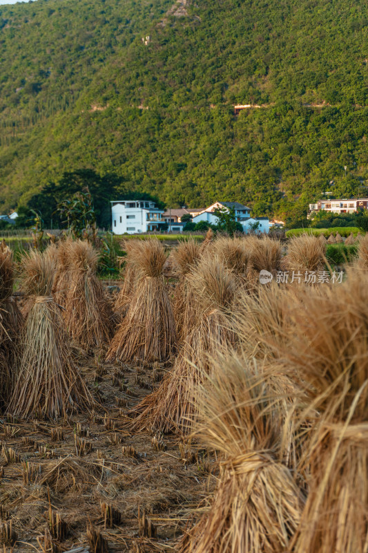
[(280, 216), (365, 191), (367, 3), (173, 2), (0, 6), (1, 211), (84, 169), (106, 201)]

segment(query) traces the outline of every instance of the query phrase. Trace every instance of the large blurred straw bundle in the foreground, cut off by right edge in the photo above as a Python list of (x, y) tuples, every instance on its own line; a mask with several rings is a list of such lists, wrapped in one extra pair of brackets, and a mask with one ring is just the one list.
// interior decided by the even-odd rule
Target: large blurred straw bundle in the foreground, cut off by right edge
[(367, 305), (368, 277), (349, 271), (337, 290), (304, 294), (291, 314), (282, 353), (309, 398), (300, 424), (319, 413), (305, 452), (311, 479), (296, 553), (367, 551)]

